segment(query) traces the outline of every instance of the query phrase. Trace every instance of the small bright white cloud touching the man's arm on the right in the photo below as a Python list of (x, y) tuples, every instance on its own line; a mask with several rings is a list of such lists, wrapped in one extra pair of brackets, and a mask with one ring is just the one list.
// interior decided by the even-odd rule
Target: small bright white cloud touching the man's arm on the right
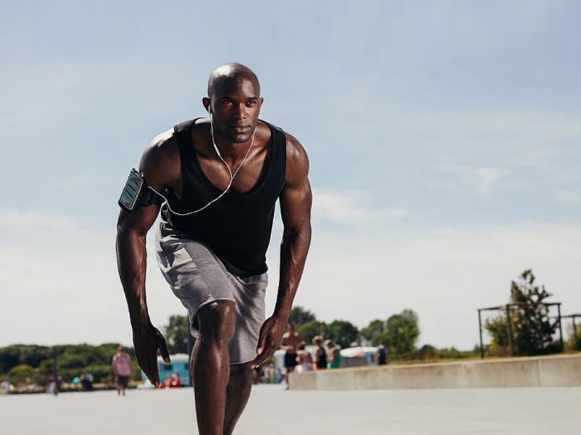
[(313, 196), (315, 220), (354, 223), (409, 216), (402, 208), (373, 208), (372, 197), (365, 191), (315, 189)]

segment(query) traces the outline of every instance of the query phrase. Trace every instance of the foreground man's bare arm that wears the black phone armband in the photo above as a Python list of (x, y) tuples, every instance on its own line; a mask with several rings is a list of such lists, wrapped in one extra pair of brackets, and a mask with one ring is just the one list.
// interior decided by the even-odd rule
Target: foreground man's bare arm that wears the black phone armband
[[(144, 174), (148, 186), (156, 191), (162, 191), (165, 187), (174, 185), (176, 174), (179, 179), (179, 154), (173, 142), (175, 140), (169, 132), (160, 135), (148, 146), (141, 159), (138, 170)], [(177, 169), (176, 155), (178, 156)], [(157, 204), (137, 208), (132, 213), (121, 210), (117, 222), (116, 239), (117, 267), (133, 329), (135, 356), (139, 366), (153, 385), (160, 383), (157, 372), (157, 350), (160, 350), (165, 361), (169, 362), (170, 359), (165, 339), (151, 324), (145, 297), (145, 271), (147, 269), (145, 236), (155, 222), (159, 211), (160, 206)]]

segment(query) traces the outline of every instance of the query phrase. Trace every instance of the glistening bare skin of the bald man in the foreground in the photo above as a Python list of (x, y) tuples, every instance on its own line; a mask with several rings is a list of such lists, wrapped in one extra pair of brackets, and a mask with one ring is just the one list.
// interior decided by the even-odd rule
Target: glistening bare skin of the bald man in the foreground
[[(231, 186), (234, 193), (248, 193), (258, 183), (270, 152), (270, 128), (258, 121), (262, 101), (255, 74), (239, 64), (216, 69), (209, 81), (209, 97), (202, 100), (204, 108), (212, 112), (216, 146), (232, 173), (252, 145)], [(204, 119), (193, 126), (192, 142), (202, 171), (214, 186), (223, 190), (230, 182), (230, 173), (216, 155), (209, 123)], [(179, 149), (173, 130), (157, 136), (145, 149), (139, 171), (156, 191), (172, 188), (178, 197), (182, 196)], [(236, 320), (233, 303), (218, 300), (197, 313), (199, 337), (192, 354), (192, 375), (202, 435), (231, 434), (250, 395), (251, 368), (264, 363), (282, 341), (311, 240), (308, 172), (303, 147), (287, 135), (286, 179), (279, 198), (284, 224), (280, 283), (275, 310), (260, 329), (254, 361), (229, 364), (228, 341)], [(165, 339), (150, 322), (145, 296), (145, 235), (159, 211), (160, 206), (155, 204), (138, 208), (134, 213), (121, 210), (116, 240), (118, 271), (128, 303), (135, 355), (155, 385), (160, 382), (157, 351), (169, 361)]]

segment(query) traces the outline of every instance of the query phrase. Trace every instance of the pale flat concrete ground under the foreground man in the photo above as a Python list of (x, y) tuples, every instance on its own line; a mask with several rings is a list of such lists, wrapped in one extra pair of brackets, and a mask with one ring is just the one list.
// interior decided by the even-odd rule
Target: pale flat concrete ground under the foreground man
[[(179, 390), (0, 396), (6, 435), (197, 434), (194, 395)], [(575, 434), (581, 388), (284, 391), (258, 385), (235, 434)]]

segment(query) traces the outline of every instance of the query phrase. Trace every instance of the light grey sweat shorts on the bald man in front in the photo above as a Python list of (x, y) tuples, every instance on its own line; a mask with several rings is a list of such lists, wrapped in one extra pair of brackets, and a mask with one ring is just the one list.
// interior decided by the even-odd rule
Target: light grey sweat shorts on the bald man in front
[(228, 345), (230, 363), (253, 361), (265, 321), (267, 273), (235, 276), (209, 247), (167, 228), (163, 221), (157, 230), (156, 248), (165, 280), (188, 310), (192, 335), (198, 335), (196, 314), (201, 307), (216, 300), (231, 300), (236, 305), (236, 326)]

